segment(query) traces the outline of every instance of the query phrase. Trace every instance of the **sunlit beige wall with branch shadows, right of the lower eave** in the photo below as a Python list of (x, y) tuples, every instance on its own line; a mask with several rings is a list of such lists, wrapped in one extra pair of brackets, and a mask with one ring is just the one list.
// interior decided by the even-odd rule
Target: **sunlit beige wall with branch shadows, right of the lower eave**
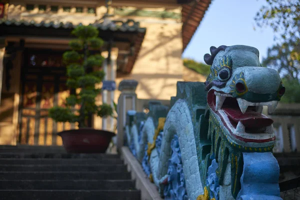
[(146, 28), (146, 34), (131, 73), (117, 82), (123, 78), (137, 80), (138, 98), (170, 99), (176, 95), (176, 82), (183, 80), (181, 23), (141, 17), (135, 20)]

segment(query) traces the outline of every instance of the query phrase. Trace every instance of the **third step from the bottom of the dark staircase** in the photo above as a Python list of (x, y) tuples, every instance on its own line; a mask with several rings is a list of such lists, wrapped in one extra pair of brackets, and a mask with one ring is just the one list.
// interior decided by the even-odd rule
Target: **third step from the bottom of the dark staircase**
[(103, 171), (0, 171), (0, 180), (122, 180), (130, 179), (129, 172)]

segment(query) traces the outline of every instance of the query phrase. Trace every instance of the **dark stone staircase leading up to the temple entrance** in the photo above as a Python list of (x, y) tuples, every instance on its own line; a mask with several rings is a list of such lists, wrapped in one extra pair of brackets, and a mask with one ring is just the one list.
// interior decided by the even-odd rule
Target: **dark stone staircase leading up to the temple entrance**
[(117, 154), (69, 154), (59, 146), (0, 146), (0, 199), (140, 199)]

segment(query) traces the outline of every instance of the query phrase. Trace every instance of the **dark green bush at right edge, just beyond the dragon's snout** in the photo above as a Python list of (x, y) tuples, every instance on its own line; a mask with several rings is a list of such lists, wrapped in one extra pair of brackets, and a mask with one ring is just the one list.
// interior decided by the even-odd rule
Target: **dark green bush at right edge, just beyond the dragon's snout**
[(285, 93), (280, 102), (300, 103), (300, 83), (296, 79), (282, 78), (285, 86)]

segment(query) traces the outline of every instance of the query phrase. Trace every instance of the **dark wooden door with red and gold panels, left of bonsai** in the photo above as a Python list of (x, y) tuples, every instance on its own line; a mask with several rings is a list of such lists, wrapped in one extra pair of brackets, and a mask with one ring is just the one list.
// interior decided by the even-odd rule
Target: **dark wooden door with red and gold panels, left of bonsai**
[(17, 134), (20, 144), (62, 145), (60, 136), (55, 133), (75, 128), (75, 124), (55, 122), (48, 117), (48, 109), (54, 105), (63, 106), (69, 95), (61, 54), (53, 51), (25, 51)]

